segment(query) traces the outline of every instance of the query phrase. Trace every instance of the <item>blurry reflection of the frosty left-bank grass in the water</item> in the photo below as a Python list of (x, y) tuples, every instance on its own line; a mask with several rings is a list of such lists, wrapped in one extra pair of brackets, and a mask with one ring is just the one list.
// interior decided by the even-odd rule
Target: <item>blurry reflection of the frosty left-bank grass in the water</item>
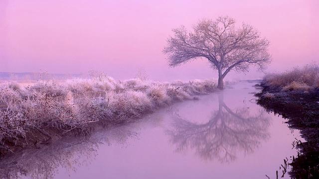
[(0, 178), (27, 176), (32, 179), (51, 179), (59, 167), (76, 171), (79, 166), (88, 164), (97, 155), (100, 145), (111, 145), (112, 142), (125, 144), (129, 138), (137, 135), (128, 126), (123, 126), (101, 130), (90, 137), (63, 138), (40, 149), (24, 150), (0, 160)]

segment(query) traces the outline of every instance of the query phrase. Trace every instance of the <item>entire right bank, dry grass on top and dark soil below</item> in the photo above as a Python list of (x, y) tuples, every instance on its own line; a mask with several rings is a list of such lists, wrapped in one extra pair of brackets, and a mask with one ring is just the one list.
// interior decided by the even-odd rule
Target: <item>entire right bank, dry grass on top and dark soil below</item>
[(290, 128), (299, 129), (306, 142), (296, 141), (299, 150), (290, 165), (294, 179), (319, 178), (319, 66), (267, 75), (257, 93), (258, 104), (287, 118)]

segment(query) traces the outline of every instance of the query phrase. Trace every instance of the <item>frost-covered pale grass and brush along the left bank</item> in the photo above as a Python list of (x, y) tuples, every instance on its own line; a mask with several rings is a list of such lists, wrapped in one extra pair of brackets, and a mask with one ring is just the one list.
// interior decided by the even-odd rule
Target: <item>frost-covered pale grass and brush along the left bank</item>
[[(215, 90), (210, 80), (159, 83), (140, 79), (115, 81), (103, 76), (65, 82), (38, 81), (30, 86), (0, 84), (0, 150), (28, 143), (32, 131), (50, 136), (90, 123), (122, 123), (175, 101), (196, 99)], [(23, 144), (19, 141), (25, 141)]]

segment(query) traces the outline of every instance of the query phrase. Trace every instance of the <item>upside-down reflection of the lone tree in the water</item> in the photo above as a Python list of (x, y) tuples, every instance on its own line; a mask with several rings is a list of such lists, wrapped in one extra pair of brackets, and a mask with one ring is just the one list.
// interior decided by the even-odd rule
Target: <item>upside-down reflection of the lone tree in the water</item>
[(253, 152), (262, 140), (269, 137), (269, 116), (259, 110), (251, 114), (248, 107), (230, 109), (218, 94), (219, 108), (211, 119), (197, 124), (175, 114), (173, 130), (168, 131), (177, 151), (193, 149), (204, 160), (231, 162), (239, 151)]

